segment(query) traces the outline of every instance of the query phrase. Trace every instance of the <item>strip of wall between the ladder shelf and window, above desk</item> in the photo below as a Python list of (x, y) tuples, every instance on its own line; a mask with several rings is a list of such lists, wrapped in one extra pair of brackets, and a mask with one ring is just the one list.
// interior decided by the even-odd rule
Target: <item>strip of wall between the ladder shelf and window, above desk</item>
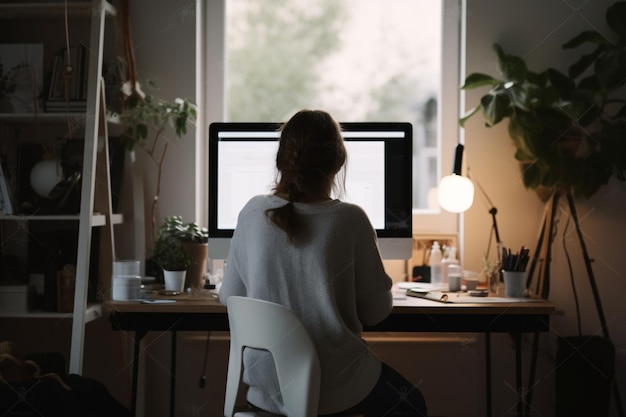
[[(132, 35), (135, 44), (139, 81), (151, 79), (158, 87), (153, 93), (163, 99), (177, 97), (197, 102), (195, 82), (196, 3), (194, 0), (131, 1)], [(182, 140), (170, 135), (161, 180), (157, 225), (169, 215), (181, 215), (185, 221), (201, 221), (196, 212), (195, 170), (196, 141), (206, 137), (190, 129)], [(137, 150), (144, 186), (146, 219), (146, 257), (152, 249), (151, 205), (156, 192), (156, 165)], [(144, 254), (137, 254), (144, 259)]]

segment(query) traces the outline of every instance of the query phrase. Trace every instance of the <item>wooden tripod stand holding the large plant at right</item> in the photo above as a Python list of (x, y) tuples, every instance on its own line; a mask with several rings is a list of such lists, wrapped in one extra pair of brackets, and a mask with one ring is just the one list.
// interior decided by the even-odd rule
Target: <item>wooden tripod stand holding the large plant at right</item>
[[(565, 198), (567, 199), (569, 212), (570, 212), (570, 215), (572, 216), (572, 220), (574, 221), (576, 235), (578, 237), (578, 241), (580, 243), (580, 247), (582, 250), (582, 254), (583, 254), (583, 258), (585, 262), (585, 269), (587, 272), (587, 277), (589, 278), (589, 284), (591, 285), (591, 290), (593, 293), (593, 298), (594, 298), (594, 302), (596, 305), (598, 318), (600, 320), (600, 325), (602, 327), (602, 333), (603, 333), (603, 339), (604, 339), (603, 340), (604, 343), (602, 347), (599, 348), (597, 352), (602, 351), (603, 357), (600, 359), (605, 360), (607, 350), (614, 351), (614, 348), (611, 342), (611, 338), (609, 336), (609, 329), (606, 323), (606, 318), (604, 316), (604, 310), (602, 308), (602, 301), (600, 299), (600, 293), (598, 291), (595, 275), (593, 273), (593, 268), (591, 265), (591, 262), (593, 260), (589, 257), (587, 246), (585, 245), (585, 240), (583, 238), (583, 234), (580, 228), (580, 222), (578, 221), (578, 214), (576, 212), (574, 198), (570, 192), (566, 192), (566, 193), (561, 193), (558, 191), (555, 192), (552, 195), (552, 198), (550, 199), (548, 206), (546, 207), (546, 214), (544, 217), (543, 228), (539, 235), (537, 247), (535, 249), (535, 254), (531, 261), (529, 272), (528, 272), (527, 287), (531, 288), (531, 286), (533, 286), (534, 284), (534, 287), (535, 287), (534, 290), (536, 294), (540, 295), (542, 298), (545, 298), (545, 299), (547, 299), (550, 294), (550, 262), (552, 260), (552, 244), (554, 243), (554, 218), (558, 209), (558, 203), (559, 203), (559, 198), (561, 197), (561, 194), (564, 194)], [(537, 273), (535, 276), (536, 271)], [(591, 337), (587, 339), (590, 339), (590, 338)], [(597, 338), (598, 337), (596, 337), (596, 339)], [(563, 338), (563, 339), (570, 339), (570, 338)], [(564, 343), (564, 341), (560, 341), (560, 342)], [(570, 346), (570, 348), (571, 347), (572, 346)], [(575, 350), (576, 350), (576, 353), (580, 353), (577, 347), (575, 348)], [(530, 375), (529, 375), (529, 381), (527, 385), (528, 387), (532, 387), (534, 385), (538, 351), (539, 351), (539, 333), (535, 333), (534, 340), (533, 340), (533, 347), (532, 347)], [(606, 369), (606, 366), (604, 366), (604, 368)], [(614, 364), (611, 365), (611, 368), (614, 372)], [(617, 379), (612, 378), (610, 385), (612, 385), (612, 388), (613, 388), (613, 394), (615, 397), (618, 415), (620, 417), (623, 417), (624, 410), (623, 410), (622, 401), (620, 397), (619, 387), (617, 384)], [(610, 397), (610, 393), (608, 393), (608, 395)], [(525, 408), (524, 415), (529, 415), (530, 413), (530, 405), (532, 402), (531, 400), (532, 400), (532, 390), (529, 390), (527, 399), (526, 399), (526, 408)], [(608, 408), (608, 404), (607, 404), (607, 408)]]

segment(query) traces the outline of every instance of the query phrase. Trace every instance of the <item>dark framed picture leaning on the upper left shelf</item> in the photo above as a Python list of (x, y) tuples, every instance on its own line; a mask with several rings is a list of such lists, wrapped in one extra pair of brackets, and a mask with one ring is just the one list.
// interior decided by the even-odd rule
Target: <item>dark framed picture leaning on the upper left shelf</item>
[(32, 113), (43, 79), (43, 44), (0, 44), (0, 113)]

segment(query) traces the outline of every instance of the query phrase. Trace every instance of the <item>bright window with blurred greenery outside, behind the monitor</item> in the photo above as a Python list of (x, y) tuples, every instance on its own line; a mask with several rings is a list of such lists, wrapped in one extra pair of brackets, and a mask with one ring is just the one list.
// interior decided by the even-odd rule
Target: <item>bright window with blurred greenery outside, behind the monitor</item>
[(210, 0), (206, 94), (224, 105), (209, 121), (282, 121), (302, 108), (409, 121), (414, 208), (432, 211), (458, 138), (459, 10), (458, 0)]

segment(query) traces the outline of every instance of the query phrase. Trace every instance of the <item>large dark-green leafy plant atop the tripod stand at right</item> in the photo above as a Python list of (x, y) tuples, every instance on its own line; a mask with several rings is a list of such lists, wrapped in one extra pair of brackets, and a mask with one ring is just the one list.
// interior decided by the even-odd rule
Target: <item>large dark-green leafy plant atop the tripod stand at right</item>
[(490, 87), (460, 123), (481, 113), (487, 126), (509, 120), (527, 188), (547, 199), (554, 191), (590, 197), (609, 178), (626, 178), (626, 2), (606, 12), (616, 39), (584, 31), (565, 49), (595, 49), (569, 67), (531, 71), (526, 62), (495, 44), (502, 78), (470, 74), (462, 89)]

